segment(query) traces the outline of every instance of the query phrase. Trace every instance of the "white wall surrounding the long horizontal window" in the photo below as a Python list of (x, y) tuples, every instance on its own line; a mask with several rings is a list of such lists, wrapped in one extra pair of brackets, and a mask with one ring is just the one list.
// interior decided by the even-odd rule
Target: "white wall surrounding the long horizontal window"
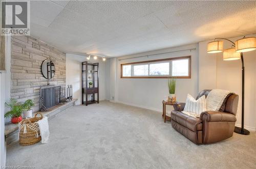
[[(116, 65), (117, 66), (117, 76), (116, 76), (117, 83), (115, 85), (115, 89), (117, 90), (115, 90), (115, 93), (114, 93), (114, 95), (117, 97), (116, 101), (120, 103), (162, 111), (161, 101), (164, 99), (164, 96), (168, 96), (167, 79), (120, 78), (120, 64), (164, 59), (164, 58), (183, 57), (187, 55), (191, 55), (191, 78), (177, 79), (176, 97), (177, 97), (177, 101), (182, 101), (182, 102), (186, 100), (186, 96), (188, 93), (196, 97), (198, 94), (198, 51), (197, 49), (191, 50), (191, 51), (187, 50), (187, 51), (153, 55), (149, 58), (147, 57), (133, 58), (133, 59), (127, 59), (127, 60), (121, 60), (121, 61), (120, 59), (137, 57), (139, 55), (193, 49), (197, 47), (198, 47), (197, 44), (192, 44), (192, 45), (156, 50), (152, 52), (140, 53), (140, 54), (130, 55), (127, 57), (118, 58), (117, 65)], [(113, 60), (113, 63), (111, 63), (111, 75), (113, 76), (113, 72), (115, 71), (115, 68), (113, 68), (113, 66), (115, 66), (116, 61), (114, 61), (114, 59), (112, 60)], [(111, 81), (114, 81), (113, 77), (110, 79), (112, 79)], [(111, 86), (111, 88), (113, 88), (113, 86)], [(113, 91), (111, 91), (111, 95), (113, 95)]]

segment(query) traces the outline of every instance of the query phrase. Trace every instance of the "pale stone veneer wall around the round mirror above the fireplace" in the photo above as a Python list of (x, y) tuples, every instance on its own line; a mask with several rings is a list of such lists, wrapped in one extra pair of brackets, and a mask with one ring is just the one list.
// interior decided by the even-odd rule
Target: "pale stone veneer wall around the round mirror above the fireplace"
[[(50, 59), (55, 65), (55, 75), (48, 80), (41, 74), (42, 61)], [(40, 87), (66, 86), (66, 53), (30, 36), (11, 38), (11, 97), (19, 102), (32, 99), (33, 111), (39, 109)]]

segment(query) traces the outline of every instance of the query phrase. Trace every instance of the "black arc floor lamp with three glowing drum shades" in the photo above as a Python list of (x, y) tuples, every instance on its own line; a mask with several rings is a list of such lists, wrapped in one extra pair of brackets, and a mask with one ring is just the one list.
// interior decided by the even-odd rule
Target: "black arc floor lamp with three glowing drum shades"
[[(232, 43), (231, 48), (223, 50), (223, 41), (227, 40)], [(223, 60), (232, 61), (241, 59), (242, 62), (242, 124), (235, 127), (234, 132), (248, 135), (250, 132), (244, 129), (244, 57), (243, 52), (256, 50), (256, 37), (243, 37), (242, 39), (232, 42), (225, 38), (215, 38), (214, 41), (207, 45), (207, 53), (219, 53), (223, 51)]]

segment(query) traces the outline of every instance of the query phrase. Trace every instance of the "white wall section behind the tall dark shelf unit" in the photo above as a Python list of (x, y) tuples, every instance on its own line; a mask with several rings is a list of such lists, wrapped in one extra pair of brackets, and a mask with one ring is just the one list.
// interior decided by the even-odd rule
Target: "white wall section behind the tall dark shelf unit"
[[(73, 97), (77, 98), (76, 105), (82, 103), (81, 96), (81, 62), (87, 61), (85, 56), (66, 53), (66, 80), (67, 85), (73, 85)], [(109, 63), (105, 62), (101, 58), (91, 62), (99, 62), (99, 100), (109, 99), (109, 82), (106, 82), (109, 78)], [(108, 70), (108, 71), (106, 71)], [(108, 89), (108, 90), (107, 90)]]

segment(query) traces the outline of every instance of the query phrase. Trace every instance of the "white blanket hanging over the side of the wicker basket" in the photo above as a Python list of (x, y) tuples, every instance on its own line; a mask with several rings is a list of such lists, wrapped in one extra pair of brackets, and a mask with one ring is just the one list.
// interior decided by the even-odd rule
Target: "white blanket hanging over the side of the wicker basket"
[(37, 122), (41, 135), (41, 143), (47, 143), (50, 135), (48, 118), (44, 117)]

